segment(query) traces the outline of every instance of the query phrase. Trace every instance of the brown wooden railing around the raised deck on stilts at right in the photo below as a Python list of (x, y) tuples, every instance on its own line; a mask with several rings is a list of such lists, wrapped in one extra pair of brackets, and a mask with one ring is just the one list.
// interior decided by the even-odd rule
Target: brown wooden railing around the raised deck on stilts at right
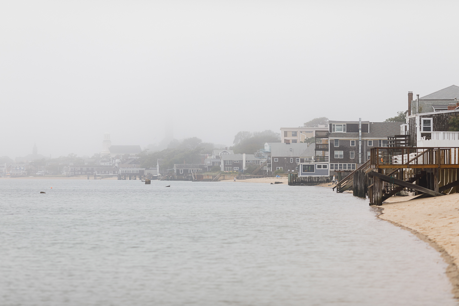
[(369, 160), (372, 168), (459, 168), (459, 148), (377, 147)]

